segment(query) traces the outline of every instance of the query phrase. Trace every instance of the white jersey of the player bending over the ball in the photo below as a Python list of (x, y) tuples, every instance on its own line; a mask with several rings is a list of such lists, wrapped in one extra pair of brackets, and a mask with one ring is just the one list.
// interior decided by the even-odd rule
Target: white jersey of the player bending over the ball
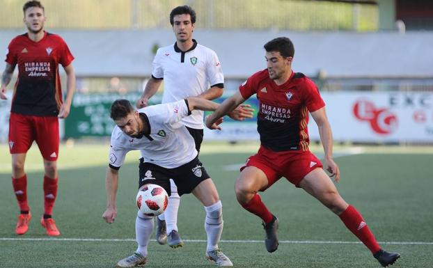
[(132, 138), (118, 126), (111, 133), (109, 164), (120, 168), (127, 152), (140, 150), (145, 162), (164, 168), (177, 168), (193, 160), (198, 152), (194, 139), (180, 120), (189, 115), (185, 100), (157, 104), (143, 109), (150, 125), (150, 134)]

